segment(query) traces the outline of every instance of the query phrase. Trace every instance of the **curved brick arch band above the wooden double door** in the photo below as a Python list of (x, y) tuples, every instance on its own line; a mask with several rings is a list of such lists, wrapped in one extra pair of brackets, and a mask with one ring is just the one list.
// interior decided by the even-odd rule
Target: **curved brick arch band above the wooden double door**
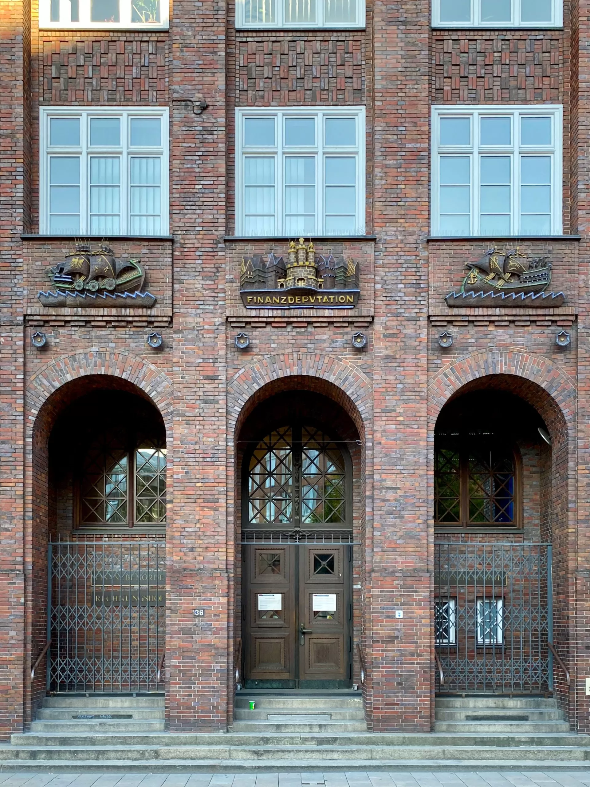
[(235, 434), (243, 420), (247, 403), (265, 386), (286, 378), (314, 379), (327, 383), (327, 391), (348, 412), (359, 434), (371, 423), (373, 387), (360, 369), (337, 358), (316, 353), (275, 355), (242, 368), (227, 384), (227, 434)]

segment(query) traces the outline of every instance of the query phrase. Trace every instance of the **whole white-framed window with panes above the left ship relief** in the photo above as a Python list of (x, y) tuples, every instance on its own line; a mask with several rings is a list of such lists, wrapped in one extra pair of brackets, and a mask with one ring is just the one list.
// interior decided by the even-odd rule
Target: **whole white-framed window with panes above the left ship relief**
[(168, 235), (168, 108), (42, 107), (40, 232)]

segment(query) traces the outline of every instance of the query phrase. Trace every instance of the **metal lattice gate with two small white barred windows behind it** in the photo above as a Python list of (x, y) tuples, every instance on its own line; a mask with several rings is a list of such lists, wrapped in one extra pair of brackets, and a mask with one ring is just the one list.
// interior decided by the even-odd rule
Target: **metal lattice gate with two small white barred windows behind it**
[(439, 693), (552, 689), (551, 546), (434, 545)]

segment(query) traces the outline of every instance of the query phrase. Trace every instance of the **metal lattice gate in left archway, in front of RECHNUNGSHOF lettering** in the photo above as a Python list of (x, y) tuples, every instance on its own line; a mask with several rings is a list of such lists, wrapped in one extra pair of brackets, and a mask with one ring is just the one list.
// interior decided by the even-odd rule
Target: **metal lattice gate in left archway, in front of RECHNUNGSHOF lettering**
[(163, 689), (166, 545), (60, 542), (49, 547), (47, 689)]

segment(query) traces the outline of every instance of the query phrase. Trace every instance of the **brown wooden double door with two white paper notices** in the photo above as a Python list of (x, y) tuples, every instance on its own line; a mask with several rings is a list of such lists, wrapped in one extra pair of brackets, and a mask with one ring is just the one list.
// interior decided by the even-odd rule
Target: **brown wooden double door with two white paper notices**
[(247, 688), (350, 685), (352, 545), (245, 545)]

